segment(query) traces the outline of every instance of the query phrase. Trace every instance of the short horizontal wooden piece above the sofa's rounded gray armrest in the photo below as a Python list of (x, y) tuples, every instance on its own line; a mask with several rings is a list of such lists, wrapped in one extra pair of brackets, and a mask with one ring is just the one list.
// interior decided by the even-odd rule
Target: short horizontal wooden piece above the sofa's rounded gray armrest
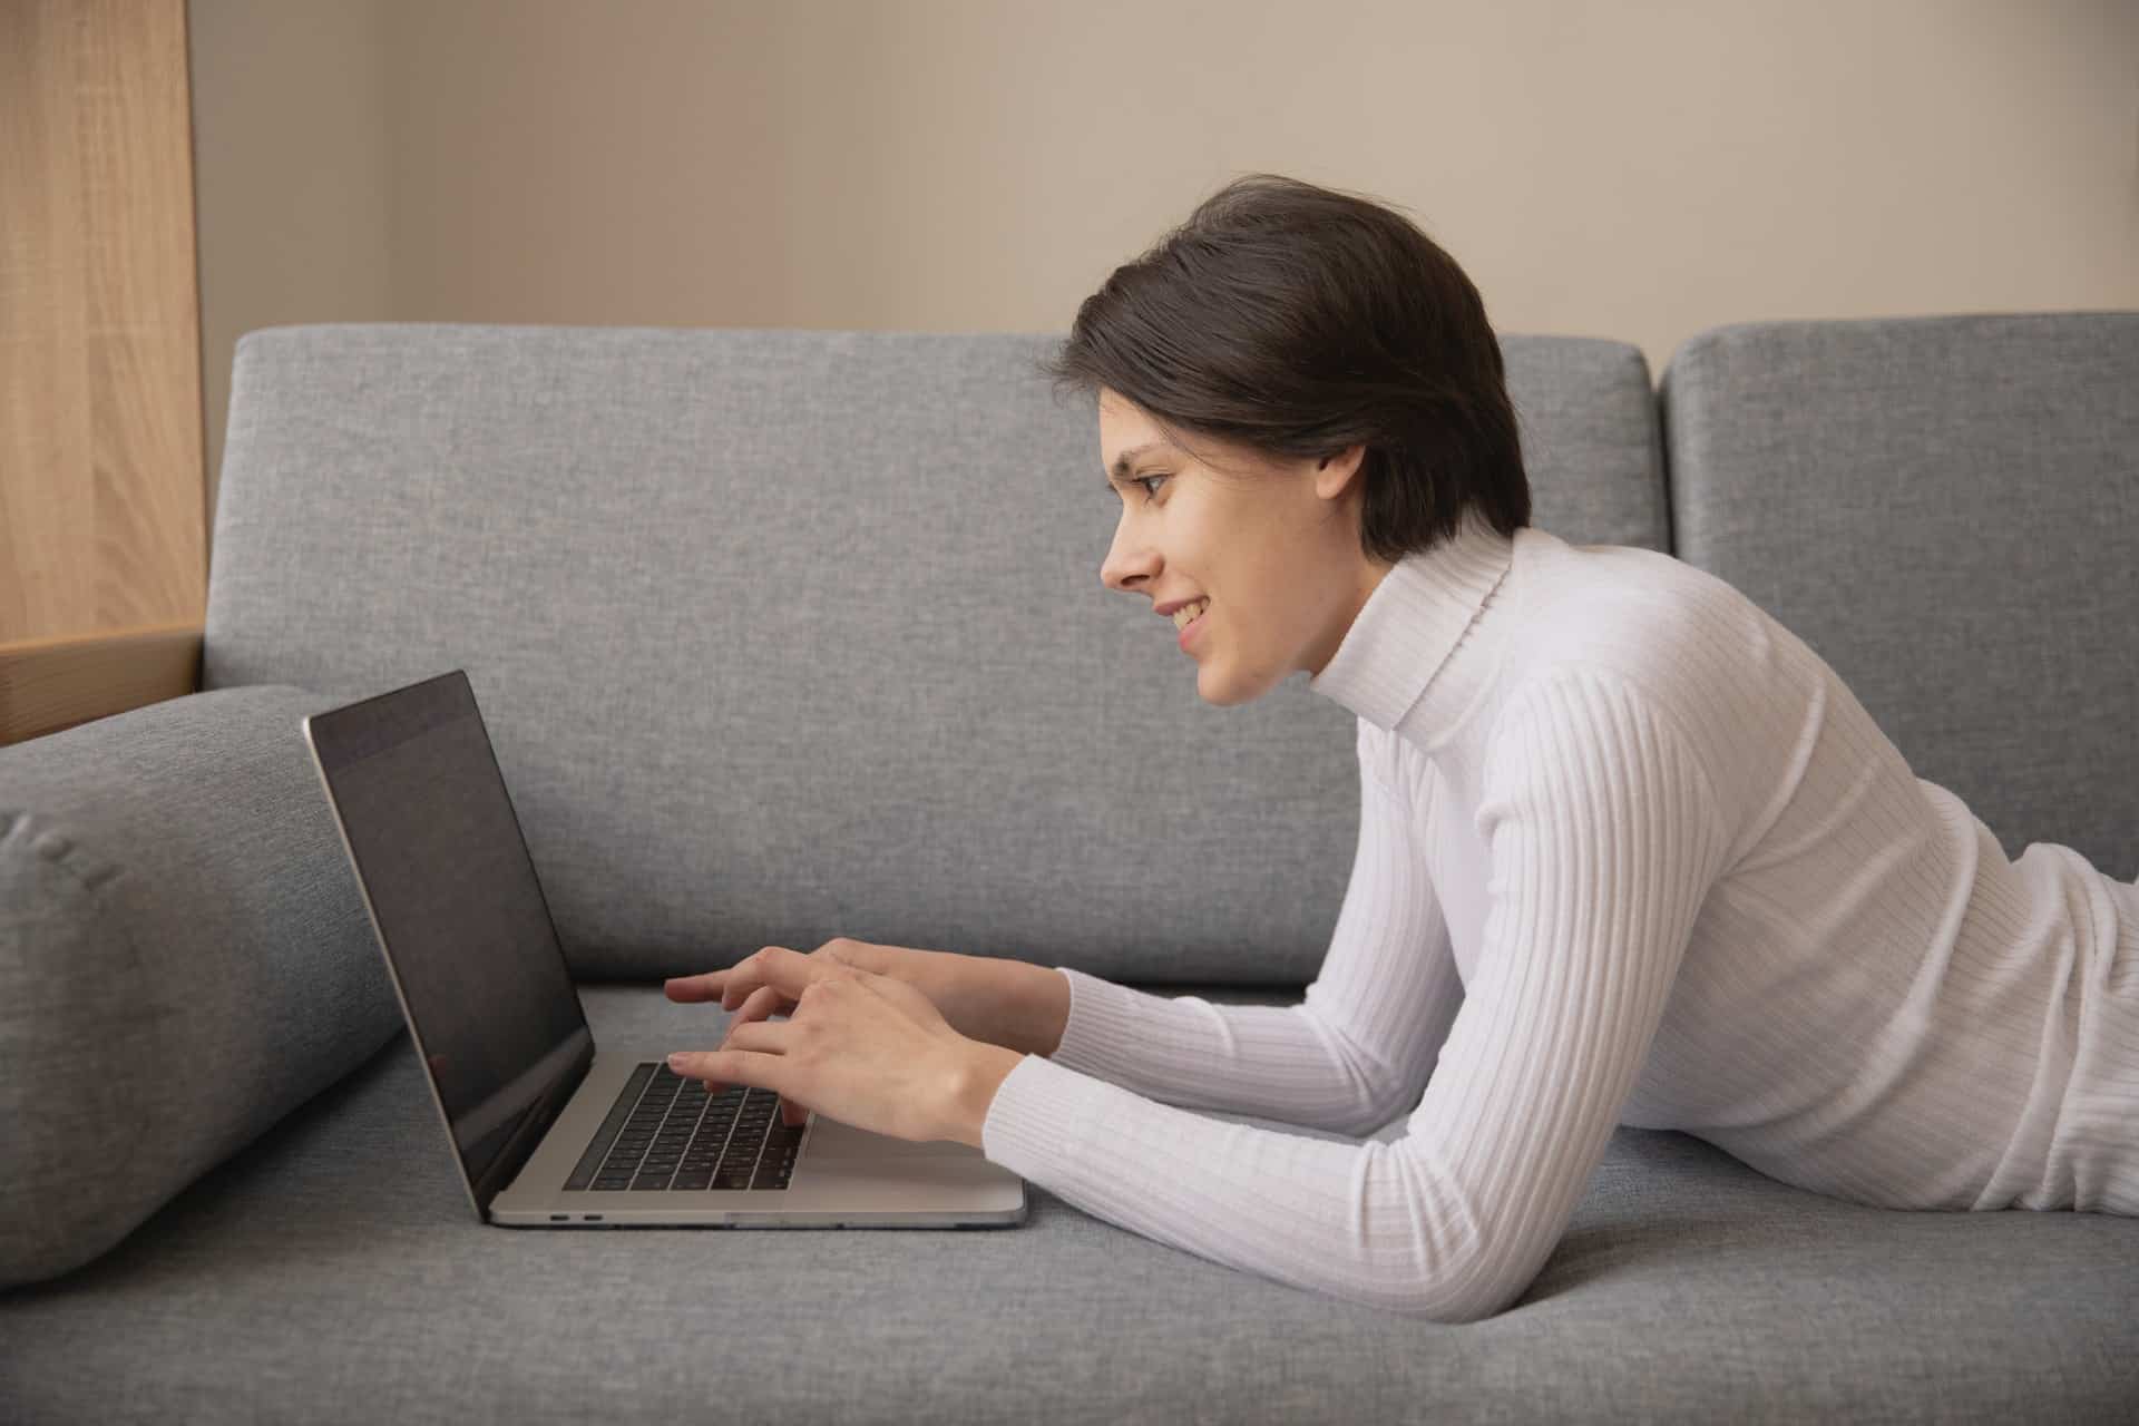
[(0, 644), (0, 744), (58, 733), (199, 686), (199, 624)]

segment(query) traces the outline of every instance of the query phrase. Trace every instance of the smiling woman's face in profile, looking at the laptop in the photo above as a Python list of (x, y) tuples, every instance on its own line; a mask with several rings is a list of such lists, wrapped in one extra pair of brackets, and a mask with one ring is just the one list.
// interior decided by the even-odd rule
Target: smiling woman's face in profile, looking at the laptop
[[(1358, 547), (1367, 449), (1277, 464), (1226, 443), (1196, 449), (1217, 466), (1127, 398), (1099, 391), (1099, 462), (1121, 500), (1099, 579), (1153, 607), (1209, 599), (1187, 644), (1196, 693), (1245, 703), (1292, 673), (1318, 676), (1388, 573)], [(1176, 637), (1172, 618), (1155, 633)]]

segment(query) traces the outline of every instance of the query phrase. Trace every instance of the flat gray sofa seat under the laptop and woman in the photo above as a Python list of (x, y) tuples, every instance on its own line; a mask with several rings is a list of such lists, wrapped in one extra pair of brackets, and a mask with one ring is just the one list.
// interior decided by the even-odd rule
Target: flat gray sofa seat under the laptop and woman
[[(584, 994), (597, 1043), (725, 1022)], [(158, 1231), (0, 1298), (15, 1420), (2009, 1424), (2139, 1394), (2133, 1221), (1859, 1208), (1679, 1133), (1621, 1129), (1523, 1300), (1437, 1326), (1037, 1189), (958, 1234), (477, 1227), (417, 1075), (387, 1045)]]

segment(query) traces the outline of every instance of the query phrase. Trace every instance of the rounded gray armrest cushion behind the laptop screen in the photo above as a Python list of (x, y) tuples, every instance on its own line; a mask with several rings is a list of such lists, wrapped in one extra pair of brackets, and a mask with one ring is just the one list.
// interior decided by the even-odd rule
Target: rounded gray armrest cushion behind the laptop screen
[(299, 729), (332, 703), (0, 748), (0, 1283), (105, 1253), (400, 1028)]

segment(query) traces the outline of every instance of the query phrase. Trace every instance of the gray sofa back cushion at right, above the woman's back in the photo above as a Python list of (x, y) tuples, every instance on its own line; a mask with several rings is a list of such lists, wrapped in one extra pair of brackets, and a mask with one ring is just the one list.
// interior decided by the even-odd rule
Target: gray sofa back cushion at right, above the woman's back
[(2139, 877), (2139, 312), (1718, 327), (1660, 400), (1673, 554), (2009, 857)]

